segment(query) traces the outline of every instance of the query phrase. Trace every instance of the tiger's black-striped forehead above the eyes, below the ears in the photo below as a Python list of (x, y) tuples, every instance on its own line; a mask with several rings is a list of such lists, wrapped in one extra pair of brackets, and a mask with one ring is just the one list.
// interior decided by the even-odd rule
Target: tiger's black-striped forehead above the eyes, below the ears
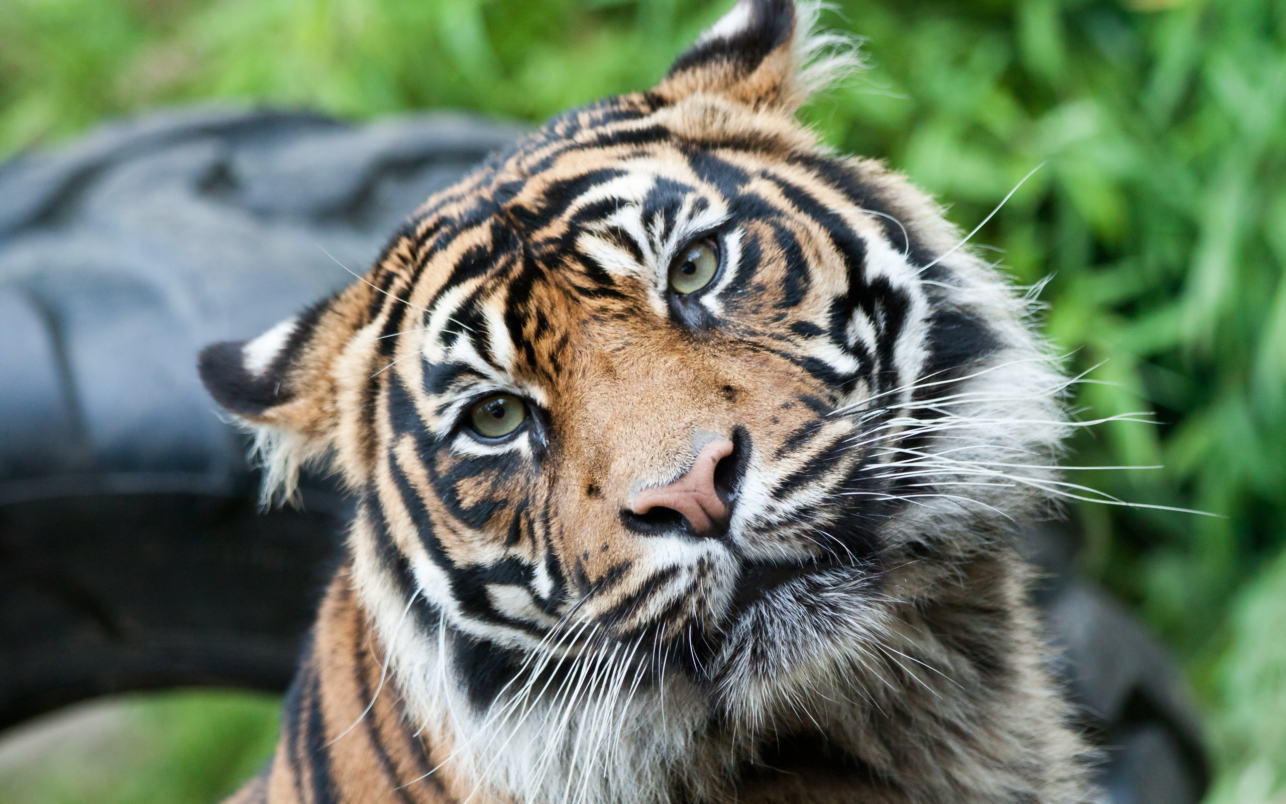
[[(418, 261), (433, 265), (417, 273), (451, 283), (453, 274), (478, 273), (481, 257), (500, 268), (521, 247), (544, 268), (637, 274), (687, 237), (799, 211), (811, 180), (799, 165), (766, 149), (675, 136), (625, 105), (629, 113), (559, 118), (431, 199), (415, 234), (430, 243)], [(597, 265), (550, 259), (575, 251)]]

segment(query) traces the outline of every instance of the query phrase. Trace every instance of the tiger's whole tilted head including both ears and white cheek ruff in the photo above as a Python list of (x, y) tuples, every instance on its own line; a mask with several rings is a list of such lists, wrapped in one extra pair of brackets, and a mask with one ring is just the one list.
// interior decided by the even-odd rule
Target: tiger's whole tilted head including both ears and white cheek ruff
[(653, 90), (431, 198), (361, 282), (204, 352), (271, 471), (328, 454), (358, 495), (408, 684), (485, 713), (611, 675), (763, 726), (1043, 498), (1058, 381), (1022, 305), (793, 121), (802, 28), (743, 0)]

